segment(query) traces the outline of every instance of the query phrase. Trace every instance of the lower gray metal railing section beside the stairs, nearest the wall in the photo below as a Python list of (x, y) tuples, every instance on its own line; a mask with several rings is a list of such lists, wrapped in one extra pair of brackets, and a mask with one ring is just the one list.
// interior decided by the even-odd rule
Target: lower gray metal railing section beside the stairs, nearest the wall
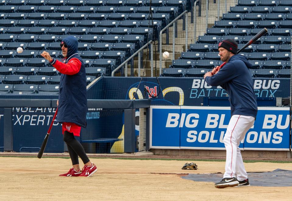
[[(140, 77), (140, 69), (141, 69), (141, 51), (143, 51), (144, 48), (146, 48), (149, 44), (151, 44), (151, 76), (153, 77), (153, 44), (152, 40), (143, 45), (139, 50), (137, 50), (133, 55), (131, 55), (129, 58), (127, 58), (121, 65), (119, 65), (116, 69), (114, 69), (111, 72), (111, 76), (114, 76), (114, 73), (117, 72), (120, 68), (122, 68), (125, 65), (125, 77), (127, 77), (127, 71), (128, 71), (128, 61), (130, 61), (132, 58), (134, 58), (138, 54), (138, 77)], [(122, 73), (123, 74), (123, 73)]]

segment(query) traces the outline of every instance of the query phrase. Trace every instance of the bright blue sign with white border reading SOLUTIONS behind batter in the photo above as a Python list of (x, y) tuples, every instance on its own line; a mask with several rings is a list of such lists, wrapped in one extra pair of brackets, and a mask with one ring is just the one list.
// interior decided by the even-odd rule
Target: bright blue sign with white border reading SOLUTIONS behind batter
[[(150, 106), (150, 148), (224, 150), (229, 107)], [(259, 107), (241, 150), (290, 150), (290, 108)]]

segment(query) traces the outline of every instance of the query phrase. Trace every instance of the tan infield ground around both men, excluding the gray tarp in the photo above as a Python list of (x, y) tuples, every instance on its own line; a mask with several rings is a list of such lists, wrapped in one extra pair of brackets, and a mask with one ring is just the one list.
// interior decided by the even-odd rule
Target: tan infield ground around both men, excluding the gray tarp
[[(98, 168), (92, 177), (73, 178), (58, 176), (69, 170), (70, 159), (0, 157), (0, 200), (292, 199), (292, 187), (216, 189), (213, 182), (193, 182), (179, 176), (224, 172), (225, 162), (106, 158), (92, 161)], [(195, 162), (199, 170), (181, 170), (185, 162)], [(245, 167), (249, 172), (292, 170), (291, 163), (246, 163)]]

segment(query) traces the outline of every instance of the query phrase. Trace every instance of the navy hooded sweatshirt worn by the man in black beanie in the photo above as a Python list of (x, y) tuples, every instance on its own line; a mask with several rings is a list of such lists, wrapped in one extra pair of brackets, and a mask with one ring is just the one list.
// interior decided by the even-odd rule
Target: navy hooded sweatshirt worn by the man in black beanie
[(229, 61), (213, 76), (207, 76), (210, 86), (221, 86), (229, 95), (232, 115), (256, 117), (258, 107), (253, 90), (251, 67), (243, 55), (233, 55)]

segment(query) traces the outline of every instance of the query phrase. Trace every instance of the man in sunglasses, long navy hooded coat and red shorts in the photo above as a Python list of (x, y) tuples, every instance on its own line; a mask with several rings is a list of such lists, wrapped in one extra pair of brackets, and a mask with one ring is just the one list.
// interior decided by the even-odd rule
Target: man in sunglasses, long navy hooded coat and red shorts
[[(67, 144), (72, 168), (59, 176), (89, 177), (97, 171), (95, 164), (87, 157), (83, 146), (74, 136), (80, 136), (81, 127), (86, 127), (87, 97), (86, 74), (82, 58), (78, 55), (78, 41), (69, 36), (61, 41), (64, 63), (43, 51), (41, 56), (46, 58), (59, 72), (62, 73), (59, 86), (57, 122), (62, 123), (63, 139)], [(84, 163), (80, 170), (78, 156)]]

